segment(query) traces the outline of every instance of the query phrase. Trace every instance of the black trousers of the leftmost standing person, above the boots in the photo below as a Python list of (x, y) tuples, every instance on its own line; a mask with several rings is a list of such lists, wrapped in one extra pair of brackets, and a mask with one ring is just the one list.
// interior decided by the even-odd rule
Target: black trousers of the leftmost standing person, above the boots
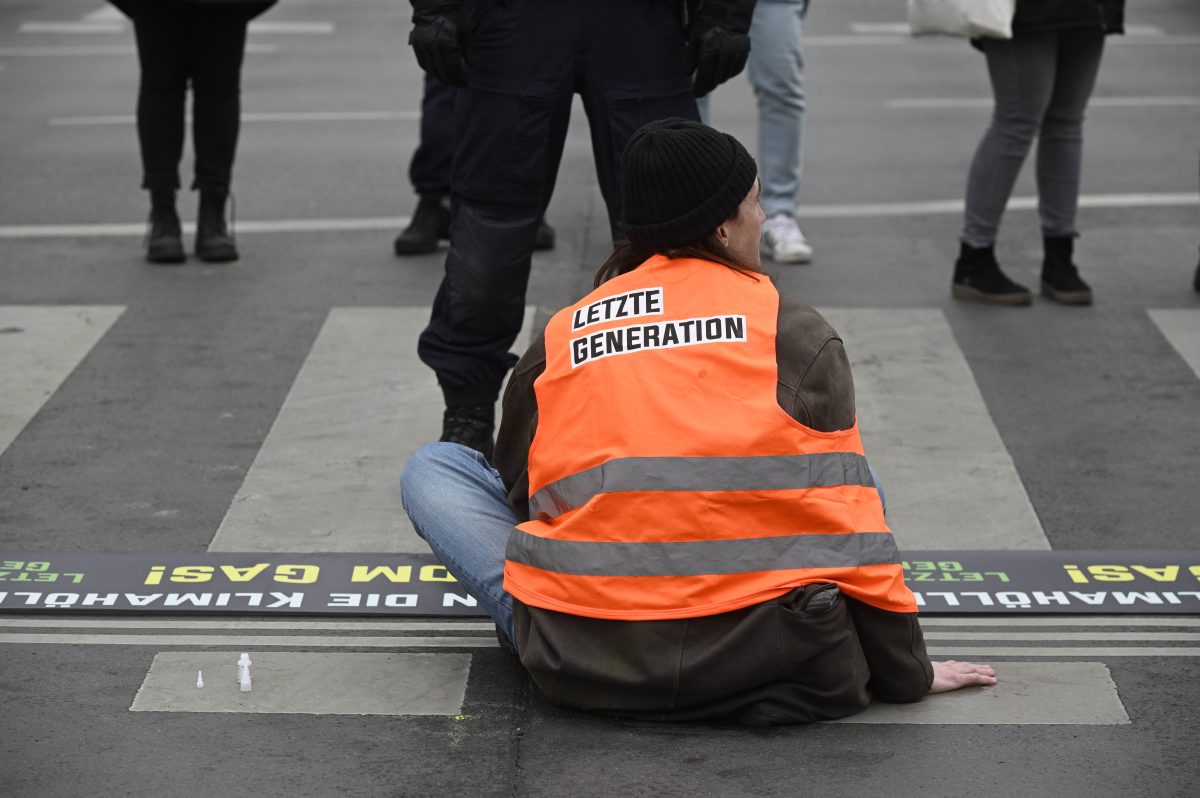
[(142, 80), (138, 142), (142, 187), (179, 188), (187, 86), (192, 86), (192, 188), (226, 193), (241, 114), (246, 25), (271, 2), (119, 4), (133, 19)]

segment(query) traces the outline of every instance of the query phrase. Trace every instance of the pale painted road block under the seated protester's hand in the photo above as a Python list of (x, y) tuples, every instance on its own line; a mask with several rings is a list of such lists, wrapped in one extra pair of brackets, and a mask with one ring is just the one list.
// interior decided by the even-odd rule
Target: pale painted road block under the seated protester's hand
[(1004, 662), (1000, 682), (926, 696), (917, 703), (876, 702), (838, 724), (1064, 725), (1129, 722), (1102, 662)]

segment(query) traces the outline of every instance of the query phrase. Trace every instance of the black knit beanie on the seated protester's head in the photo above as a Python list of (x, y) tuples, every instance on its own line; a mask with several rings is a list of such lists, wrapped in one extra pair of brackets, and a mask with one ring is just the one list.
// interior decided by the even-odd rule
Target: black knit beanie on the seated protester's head
[(703, 239), (734, 215), (758, 176), (736, 138), (686, 119), (638, 128), (620, 169), (625, 235), (646, 250)]

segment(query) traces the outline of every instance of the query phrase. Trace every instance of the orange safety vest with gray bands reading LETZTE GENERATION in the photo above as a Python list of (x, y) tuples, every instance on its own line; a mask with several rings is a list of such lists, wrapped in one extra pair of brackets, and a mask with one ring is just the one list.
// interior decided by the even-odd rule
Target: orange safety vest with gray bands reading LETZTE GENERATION
[(779, 406), (778, 313), (766, 275), (655, 256), (551, 319), (505, 590), (650, 620), (835, 582), (917, 611), (858, 425), (818, 432)]

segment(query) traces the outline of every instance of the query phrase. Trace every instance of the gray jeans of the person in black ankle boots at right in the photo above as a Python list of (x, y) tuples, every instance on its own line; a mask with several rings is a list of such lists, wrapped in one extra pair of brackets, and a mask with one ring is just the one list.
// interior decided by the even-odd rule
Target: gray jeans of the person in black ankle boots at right
[(982, 46), (996, 107), (971, 161), (961, 240), (973, 247), (995, 244), (1034, 137), (1042, 234), (1073, 238), (1084, 109), (1096, 84), (1104, 34), (1099, 29), (1021, 34), (986, 38)]

